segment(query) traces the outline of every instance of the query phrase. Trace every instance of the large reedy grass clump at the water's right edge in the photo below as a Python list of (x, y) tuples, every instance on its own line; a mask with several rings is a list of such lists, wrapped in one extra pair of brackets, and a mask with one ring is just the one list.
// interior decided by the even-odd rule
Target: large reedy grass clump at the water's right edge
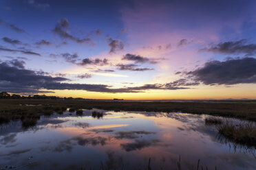
[(228, 141), (248, 147), (256, 147), (256, 125), (255, 123), (241, 123), (236, 125), (233, 122), (223, 123), (218, 127), (219, 133)]

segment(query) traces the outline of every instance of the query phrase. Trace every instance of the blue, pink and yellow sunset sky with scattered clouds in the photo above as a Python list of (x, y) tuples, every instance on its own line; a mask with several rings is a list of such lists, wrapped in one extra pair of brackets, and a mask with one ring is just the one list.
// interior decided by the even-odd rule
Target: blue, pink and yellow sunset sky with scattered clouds
[(0, 1), (0, 91), (256, 99), (256, 1)]

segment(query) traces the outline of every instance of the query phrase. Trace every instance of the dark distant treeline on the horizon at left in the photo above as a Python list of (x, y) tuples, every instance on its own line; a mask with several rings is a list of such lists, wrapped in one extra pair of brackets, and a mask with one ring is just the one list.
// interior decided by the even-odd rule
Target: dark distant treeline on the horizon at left
[(46, 95), (28, 95), (28, 96), (22, 96), (22, 95), (16, 95), (16, 94), (9, 94), (7, 92), (0, 92), (0, 99), (64, 99), (64, 100), (83, 100), (83, 98), (73, 98), (73, 97), (56, 97), (56, 96), (46, 96)]

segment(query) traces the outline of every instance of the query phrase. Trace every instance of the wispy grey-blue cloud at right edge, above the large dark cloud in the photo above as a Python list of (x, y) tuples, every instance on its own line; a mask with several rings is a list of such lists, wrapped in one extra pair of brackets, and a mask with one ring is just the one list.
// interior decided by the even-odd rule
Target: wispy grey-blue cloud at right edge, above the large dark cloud
[(246, 40), (220, 42), (213, 45), (209, 49), (200, 49), (200, 51), (210, 51), (213, 53), (245, 53), (246, 55), (253, 55), (256, 53), (256, 44), (246, 44)]

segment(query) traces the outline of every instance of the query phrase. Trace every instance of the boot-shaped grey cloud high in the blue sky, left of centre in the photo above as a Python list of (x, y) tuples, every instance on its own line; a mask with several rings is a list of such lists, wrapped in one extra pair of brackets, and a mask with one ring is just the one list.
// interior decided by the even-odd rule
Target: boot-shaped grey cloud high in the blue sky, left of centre
[(75, 36), (72, 36), (69, 32), (67, 32), (67, 29), (69, 27), (70, 23), (67, 19), (63, 18), (56, 24), (56, 26), (53, 29), (53, 32), (58, 36), (61, 36), (61, 38), (73, 40), (74, 42), (77, 42), (79, 44), (93, 44), (93, 41), (90, 38), (77, 38)]

